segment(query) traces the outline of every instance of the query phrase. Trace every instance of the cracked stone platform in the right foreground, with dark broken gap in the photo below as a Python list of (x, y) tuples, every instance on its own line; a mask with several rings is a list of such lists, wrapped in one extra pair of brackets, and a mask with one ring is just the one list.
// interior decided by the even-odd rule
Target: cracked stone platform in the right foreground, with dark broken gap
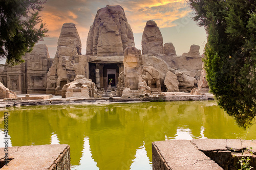
[(237, 169), (241, 168), (238, 161), (242, 157), (249, 157), (249, 165), (256, 167), (255, 154), (256, 140), (193, 139), (152, 143), (153, 170)]

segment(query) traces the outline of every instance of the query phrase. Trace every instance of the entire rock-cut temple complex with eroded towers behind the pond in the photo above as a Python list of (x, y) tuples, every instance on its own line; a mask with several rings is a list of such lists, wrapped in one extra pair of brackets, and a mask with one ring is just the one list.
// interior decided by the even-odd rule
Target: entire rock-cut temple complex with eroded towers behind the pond
[(107, 90), (129, 97), (161, 91), (189, 92), (207, 86), (198, 45), (177, 56), (173, 43), (163, 44), (153, 20), (146, 22), (141, 43), (142, 51), (135, 47), (123, 8), (107, 5), (97, 11), (90, 27), (86, 55), (81, 54), (75, 24), (64, 23), (54, 58), (50, 58), (46, 45), (35, 45), (23, 57), (25, 63), (1, 68), (0, 81), (17, 94), (72, 96), (87, 91), (90, 97)]

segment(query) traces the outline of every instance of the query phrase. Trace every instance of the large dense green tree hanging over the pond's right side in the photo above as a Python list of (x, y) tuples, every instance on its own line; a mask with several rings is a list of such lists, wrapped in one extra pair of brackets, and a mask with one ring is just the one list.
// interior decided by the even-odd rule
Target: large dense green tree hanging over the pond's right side
[(256, 116), (256, 1), (189, 0), (204, 26), (207, 81), (219, 106), (239, 126)]

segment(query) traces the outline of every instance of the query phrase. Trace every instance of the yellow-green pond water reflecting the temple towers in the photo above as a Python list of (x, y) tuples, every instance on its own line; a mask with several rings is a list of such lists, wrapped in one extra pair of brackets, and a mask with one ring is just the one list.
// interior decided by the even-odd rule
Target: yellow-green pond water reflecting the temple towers
[(10, 146), (69, 144), (72, 169), (152, 169), (151, 143), (159, 140), (256, 139), (256, 126), (239, 128), (214, 101), (2, 109), (0, 139), (5, 111)]

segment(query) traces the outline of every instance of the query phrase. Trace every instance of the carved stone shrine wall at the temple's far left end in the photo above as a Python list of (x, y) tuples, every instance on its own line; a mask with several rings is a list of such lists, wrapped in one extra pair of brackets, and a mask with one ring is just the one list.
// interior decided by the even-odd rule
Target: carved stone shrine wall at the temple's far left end
[(35, 45), (31, 53), (22, 57), (25, 62), (15, 66), (5, 65), (1, 74), (5, 87), (22, 93), (46, 93), (47, 72), (52, 64), (48, 48)]

